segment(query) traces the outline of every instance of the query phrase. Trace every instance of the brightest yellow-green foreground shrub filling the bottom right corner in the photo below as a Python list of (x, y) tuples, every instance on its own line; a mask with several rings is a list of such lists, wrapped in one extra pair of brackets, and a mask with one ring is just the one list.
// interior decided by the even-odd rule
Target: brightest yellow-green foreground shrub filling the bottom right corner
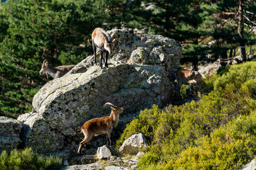
[[(181, 152), (171, 169), (240, 169), (256, 153), (256, 112), (236, 118)], [(166, 164), (167, 166), (167, 164)]]

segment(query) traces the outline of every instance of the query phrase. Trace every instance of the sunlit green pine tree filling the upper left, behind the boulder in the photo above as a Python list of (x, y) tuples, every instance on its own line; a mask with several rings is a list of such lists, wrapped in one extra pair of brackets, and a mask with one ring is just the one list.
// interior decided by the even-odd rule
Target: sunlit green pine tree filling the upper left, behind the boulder
[[(31, 111), (46, 83), (38, 72), (44, 59), (76, 64), (92, 47), (92, 30), (101, 26), (99, 1), (9, 0), (0, 8), (0, 115)], [(84, 47), (81, 47), (82, 44)]]

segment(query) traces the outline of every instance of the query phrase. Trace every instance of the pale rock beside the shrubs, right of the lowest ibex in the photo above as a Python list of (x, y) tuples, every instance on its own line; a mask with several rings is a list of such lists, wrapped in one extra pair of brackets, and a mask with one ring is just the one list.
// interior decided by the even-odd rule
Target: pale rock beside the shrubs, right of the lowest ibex
[(137, 154), (141, 147), (146, 147), (146, 140), (144, 139), (144, 135), (139, 133), (125, 140), (119, 148), (119, 152), (122, 154)]

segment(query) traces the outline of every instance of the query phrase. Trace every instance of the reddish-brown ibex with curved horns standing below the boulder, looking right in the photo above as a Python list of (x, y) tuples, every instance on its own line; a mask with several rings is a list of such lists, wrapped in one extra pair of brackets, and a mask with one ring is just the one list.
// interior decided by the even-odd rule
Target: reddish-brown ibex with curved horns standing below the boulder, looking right
[(104, 108), (107, 106), (110, 106), (111, 108), (110, 116), (105, 116), (102, 118), (93, 118), (91, 120), (88, 120), (82, 126), (82, 128), (75, 130), (75, 134), (82, 132), (83, 135), (85, 135), (82, 142), (80, 142), (78, 154), (80, 154), (82, 145), (85, 145), (85, 143), (89, 142), (92, 139), (92, 137), (97, 135), (106, 134), (107, 145), (108, 142), (110, 142), (111, 145), (111, 132), (114, 128), (117, 127), (117, 124), (119, 122), (119, 114), (124, 111), (124, 108), (114, 106), (112, 103), (105, 103)]

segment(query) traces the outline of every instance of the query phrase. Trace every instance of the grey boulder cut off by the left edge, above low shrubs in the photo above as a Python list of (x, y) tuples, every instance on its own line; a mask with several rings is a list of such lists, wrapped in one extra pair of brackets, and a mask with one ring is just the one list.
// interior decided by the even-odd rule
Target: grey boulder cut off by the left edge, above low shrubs
[(13, 118), (0, 117), (0, 154), (3, 150), (11, 150), (21, 144), (19, 135), (22, 124)]

